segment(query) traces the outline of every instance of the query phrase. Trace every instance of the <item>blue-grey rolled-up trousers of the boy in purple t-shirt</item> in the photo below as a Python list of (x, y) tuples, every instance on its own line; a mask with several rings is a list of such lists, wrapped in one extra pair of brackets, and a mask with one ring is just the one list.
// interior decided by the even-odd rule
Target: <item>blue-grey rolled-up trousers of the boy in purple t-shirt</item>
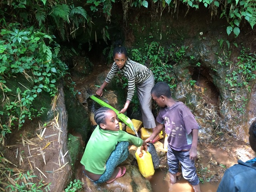
[(170, 173), (176, 174), (178, 172), (179, 162), (182, 165), (181, 170), (184, 179), (193, 186), (199, 184), (195, 161), (189, 158), (189, 151), (176, 151), (168, 145), (167, 163)]

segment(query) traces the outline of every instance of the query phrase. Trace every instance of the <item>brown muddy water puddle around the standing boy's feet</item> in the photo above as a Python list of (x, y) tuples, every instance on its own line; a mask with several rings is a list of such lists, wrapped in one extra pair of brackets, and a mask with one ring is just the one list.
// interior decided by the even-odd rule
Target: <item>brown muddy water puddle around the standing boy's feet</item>
[[(155, 170), (155, 174), (147, 179), (150, 181), (154, 192), (194, 192), (192, 186), (182, 176), (177, 179), (176, 184), (170, 184), (167, 171), (161, 169)], [(219, 182), (200, 183), (201, 192), (216, 192), (218, 184)]]

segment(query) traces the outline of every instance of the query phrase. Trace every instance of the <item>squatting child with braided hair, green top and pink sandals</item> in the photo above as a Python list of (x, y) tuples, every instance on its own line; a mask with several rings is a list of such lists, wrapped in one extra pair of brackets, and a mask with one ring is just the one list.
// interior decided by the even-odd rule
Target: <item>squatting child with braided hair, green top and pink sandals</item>
[[(147, 150), (141, 138), (132, 136), (119, 129), (116, 113), (106, 107), (94, 114), (98, 126), (93, 131), (84, 151), (82, 160), (85, 175), (95, 183), (111, 183), (123, 176), (125, 167), (117, 167), (128, 157), (129, 142)], [(142, 149), (141, 149), (142, 151)]]

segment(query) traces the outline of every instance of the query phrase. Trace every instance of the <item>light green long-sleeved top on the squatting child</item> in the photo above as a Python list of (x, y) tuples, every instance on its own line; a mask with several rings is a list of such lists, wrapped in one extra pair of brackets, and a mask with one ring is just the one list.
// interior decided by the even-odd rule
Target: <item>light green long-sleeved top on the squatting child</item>
[(97, 126), (88, 141), (84, 155), (80, 163), (85, 169), (94, 174), (103, 174), (105, 164), (116, 144), (121, 141), (128, 141), (137, 147), (141, 146), (143, 140), (130, 135), (122, 130), (109, 131)]

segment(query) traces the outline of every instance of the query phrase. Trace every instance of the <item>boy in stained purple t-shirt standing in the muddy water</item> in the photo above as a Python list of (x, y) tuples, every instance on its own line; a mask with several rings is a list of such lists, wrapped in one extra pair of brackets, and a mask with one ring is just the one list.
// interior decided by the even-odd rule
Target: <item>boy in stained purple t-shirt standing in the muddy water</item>
[(156, 118), (158, 125), (146, 142), (152, 142), (165, 126), (168, 135), (168, 166), (171, 184), (176, 183), (179, 162), (182, 175), (192, 185), (195, 192), (200, 192), (196, 174), (198, 123), (189, 108), (171, 97), (170, 87), (158, 82), (151, 90), (151, 96), (161, 107)]

